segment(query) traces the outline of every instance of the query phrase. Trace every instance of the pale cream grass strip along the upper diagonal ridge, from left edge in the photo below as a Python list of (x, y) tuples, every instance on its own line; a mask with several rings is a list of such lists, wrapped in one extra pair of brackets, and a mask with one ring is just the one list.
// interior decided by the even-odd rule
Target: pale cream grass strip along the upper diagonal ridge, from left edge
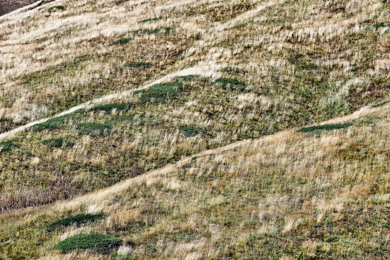
[(40, 120), (36, 120), (34, 122), (30, 122), (24, 126), (21, 126), (21, 127), (18, 127), (18, 128), (15, 128), (13, 130), (9, 130), (7, 132), (3, 132), (0, 134), (0, 141), (2, 139), (5, 139), (5, 138), (8, 138), (8, 137), (12, 137), (14, 134), (20, 132), (20, 131), (23, 131), (29, 127), (32, 127), (32, 126), (35, 126), (37, 124), (42, 124), (42, 123), (45, 123), (46, 121), (50, 120), (50, 119), (53, 119), (53, 118), (57, 118), (57, 117), (60, 117), (60, 116), (64, 116), (64, 115), (67, 115), (67, 114), (70, 114), (78, 109), (83, 109), (83, 108), (88, 108), (89, 106), (92, 106), (92, 105), (95, 105), (95, 104), (99, 104), (99, 103), (102, 103), (102, 102), (107, 102), (107, 101), (110, 101), (110, 100), (114, 100), (114, 99), (119, 99), (119, 98), (124, 98), (126, 96), (129, 96), (131, 93), (133, 93), (134, 91), (137, 91), (137, 90), (143, 90), (143, 89), (147, 89), (155, 84), (159, 84), (159, 83), (163, 83), (165, 81), (168, 81), (168, 80), (171, 80), (175, 77), (178, 77), (178, 76), (189, 76), (189, 75), (202, 75), (202, 76), (212, 76), (216, 70), (218, 70), (219, 66), (218, 65), (205, 65), (205, 66), (195, 66), (195, 67), (191, 67), (191, 68), (188, 68), (188, 69), (183, 69), (183, 70), (179, 70), (177, 72), (174, 72), (174, 73), (171, 73), (171, 74), (168, 74), (158, 80), (155, 80), (149, 84), (146, 84), (142, 87), (139, 87), (139, 88), (135, 88), (133, 90), (125, 90), (123, 92), (118, 92), (118, 93), (113, 93), (113, 94), (110, 94), (110, 95), (107, 95), (107, 96), (104, 96), (104, 97), (101, 97), (101, 98), (97, 98), (97, 99), (93, 99), (93, 100), (90, 100), (90, 101), (87, 101), (85, 103), (82, 103), (80, 105), (77, 105), (73, 108), (70, 108), (68, 109), (67, 111), (64, 111), (64, 112), (61, 112), (53, 117), (49, 117), (49, 118), (45, 118), (45, 119), (40, 119)]

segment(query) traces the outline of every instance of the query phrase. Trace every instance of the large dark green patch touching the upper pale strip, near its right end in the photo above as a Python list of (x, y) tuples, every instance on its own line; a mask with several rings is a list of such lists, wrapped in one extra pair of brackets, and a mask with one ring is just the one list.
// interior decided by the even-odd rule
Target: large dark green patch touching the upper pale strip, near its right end
[(142, 91), (139, 102), (164, 102), (166, 99), (177, 97), (182, 89), (182, 83), (165, 83), (153, 85)]

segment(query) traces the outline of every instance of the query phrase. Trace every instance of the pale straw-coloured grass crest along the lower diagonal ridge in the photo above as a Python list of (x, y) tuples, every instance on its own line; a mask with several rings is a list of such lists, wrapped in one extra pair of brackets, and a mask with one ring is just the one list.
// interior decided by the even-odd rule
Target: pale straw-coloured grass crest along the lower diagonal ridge
[[(388, 105), (387, 107), (390, 107), (390, 105)], [(347, 115), (347, 116), (344, 116), (341, 118), (331, 119), (331, 120), (324, 121), (324, 122), (321, 122), (321, 123), (316, 124), (316, 125), (334, 124), (334, 123), (341, 123), (341, 122), (346, 122), (346, 121), (358, 119), (361, 116), (364, 116), (366, 114), (369, 114), (369, 113), (376, 111), (376, 110), (379, 110), (379, 109), (381, 109), (381, 108), (371, 108), (370, 109), (368, 107), (364, 107), (361, 110), (359, 110), (351, 115)], [(89, 194), (81, 195), (80, 197), (76, 197), (76, 198), (73, 198), (70, 200), (58, 201), (53, 205), (53, 208), (55, 208), (57, 210), (61, 210), (64, 208), (75, 209), (75, 208), (79, 207), (80, 204), (87, 204), (87, 203), (89, 205), (94, 205), (94, 204), (99, 204), (99, 203), (103, 204), (106, 200), (109, 199), (108, 198), (109, 196), (114, 196), (116, 193), (119, 193), (119, 192), (129, 188), (131, 186), (131, 184), (133, 184), (135, 182), (151, 180), (153, 177), (155, 177), (157, 175), (169, 173), (171, 170), (174, 169), (175, 166), (183, 165), (183, 164), (191, 161), (191, 159), (194, 156), (218, 154), (218, 153), (221, 153), (221, 152), (226, 151), (226, 150), (232, 150), (235, 148), (239, 148), (241, 146), (250, 145), (251, 142), (256, 143), (260, 140), (269, 140), (269, 139), (273, 139), (275, 137), (283, 138), (283, 136), (288, 135), (289, 133), (291, 133), (291, 131), (294, 131), (294, 130), (295, 129), (283, 130), (283, 131), (280, 131), (280, 132), (277, 132), (277, 133), (274, 133), (271, 135), (266, 135), (266, 136), (263, 136), (260, 138), (245, 139), (245, 140), (237, 141), (237, 142), (234, 142), (234, 143), (222, 146), (222, 147), (218, 147), (218, 148), (214, 148), (214, 149), (210, 149), (210, 150), (205, 150), (205, 151), (199, 152), (197, 154), (193, 154), (191, 156), (185, 157), (185, 158), (181, 159), (180, 161), (176, 162), (175, 164), (167, 164), (162, 168), (143, 173), (143, 174), (138, 175), (136, 177), (128, 178), (128, 179), (123, 180), (123, 181), (121, 181), (113, 186), (110, 186), (110, 187), (107, 187), (107, 188), (104, 188), (101, 190), (97, 190), (97, 191), (91, 192)], [(99, 208), (99, 206), (97, 206), (97, 207)]]

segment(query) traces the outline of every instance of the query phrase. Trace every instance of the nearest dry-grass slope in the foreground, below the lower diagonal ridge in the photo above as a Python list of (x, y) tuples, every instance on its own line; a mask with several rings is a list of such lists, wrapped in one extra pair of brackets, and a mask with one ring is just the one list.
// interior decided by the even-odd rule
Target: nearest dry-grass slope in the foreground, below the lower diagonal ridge
[[(2, 214), (0, 257), (387, 259), (389, 110), (241, 141), (70, 201)], [(98, 217), (64, 221), (86, 213)], [(53, 249), (95, 233), (123, 245), (108, 255)]]

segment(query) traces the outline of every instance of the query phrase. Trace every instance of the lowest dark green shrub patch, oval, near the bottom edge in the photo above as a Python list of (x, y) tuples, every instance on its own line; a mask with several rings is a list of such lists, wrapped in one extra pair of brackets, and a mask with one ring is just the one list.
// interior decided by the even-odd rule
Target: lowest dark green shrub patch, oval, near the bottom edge
[(113, 249), (121, 246), (123, 240), (105, 234), (82, 234), (67, 238), (59, 242), (54, 249), (62, 253), (77, 250), (90, 250), (98, 253), (110, 253)]

